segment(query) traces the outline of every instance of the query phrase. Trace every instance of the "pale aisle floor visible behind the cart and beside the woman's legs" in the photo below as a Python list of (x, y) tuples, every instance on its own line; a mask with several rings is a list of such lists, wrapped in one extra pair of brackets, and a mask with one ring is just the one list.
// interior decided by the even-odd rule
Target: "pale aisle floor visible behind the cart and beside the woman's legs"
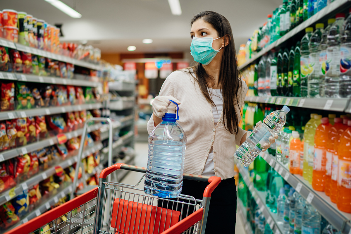
[[(147, 143), (135, 143), (135, 166), (145, 167), (147, 164), (147, 151), (148, 144)], [(121, 181), (122, 183), (127, 183), (130, 185), (135, 185), (141, 178), (141, 173), (138, 172), (129, 172), (126, 177)], [(138, 188), (142, 189), (144, 186), (144, 182), (140, 182)], [(245, 229), (243, 226), (243, 222), (240, 219), (240, 216), (237, 211), (237, 220), (235, 227), (236, 234), (244, 234)]]

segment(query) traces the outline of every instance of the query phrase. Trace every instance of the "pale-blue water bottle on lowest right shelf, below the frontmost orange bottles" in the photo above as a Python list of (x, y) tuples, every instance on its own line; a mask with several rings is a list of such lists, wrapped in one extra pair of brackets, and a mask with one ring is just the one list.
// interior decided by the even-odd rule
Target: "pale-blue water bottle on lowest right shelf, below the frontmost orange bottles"
[(317, 209), (307, 202), (302, 214), (302, 234), (320, 233), (321, 220)]

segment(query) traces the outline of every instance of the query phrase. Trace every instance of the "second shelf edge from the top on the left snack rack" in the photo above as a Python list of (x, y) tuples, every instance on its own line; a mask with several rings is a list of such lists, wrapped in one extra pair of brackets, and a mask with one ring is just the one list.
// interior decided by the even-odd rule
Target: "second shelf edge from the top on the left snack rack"
[(18, 81), (48, 83), (48, 84), (58, 84), (58, 85), (88, 86), (88, 87), (97, 87), (99, 85), (102, 86), (102, 83), (100, 82), (93, 82), (93, 81), (87, 81), (87, 80), (65, 79), (65, 78), (56, 78), (56, 77), (50, 77), (50, 76), (39, 76), (39, 75), (10, 73), (10, 72), (2, 72), (1, 74), (2, 76), (4, 76), (4, 78), (8, 76), (10, 76), (11, 78), (11, 75), (15, 76), (16, 80)]

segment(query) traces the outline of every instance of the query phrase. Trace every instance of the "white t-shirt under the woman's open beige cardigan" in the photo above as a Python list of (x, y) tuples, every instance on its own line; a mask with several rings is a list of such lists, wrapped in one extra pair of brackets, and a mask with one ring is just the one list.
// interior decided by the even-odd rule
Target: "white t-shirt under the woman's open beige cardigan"
[[(222, 114), (223, 110), (223, 95), (222, 95), (222, 90), (221, 89), (213, 89), (213, 88), (208, 88), (208, 91), (211, 93), (211, 98), (212, 101), (214, 102), (214, 105), (212, 106), (212, 114), (213, 114), (213, 120), (214, 120), (214, 126), (217, 125), (218, 120)], [(217, 109), (216, 109), (217, 108)], [(205, 163), (205, 168), (202, 173), (202, 175), (206, 176), (214, 176), (214, 162), (213, 162), (213, 149), (211, 147), (210, 153), (208, 153), (208, 157)]]

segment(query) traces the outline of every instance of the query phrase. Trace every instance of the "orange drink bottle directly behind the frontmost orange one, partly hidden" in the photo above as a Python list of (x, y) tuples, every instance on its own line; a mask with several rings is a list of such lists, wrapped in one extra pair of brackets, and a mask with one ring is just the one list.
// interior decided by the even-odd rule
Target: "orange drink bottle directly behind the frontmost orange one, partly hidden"
[(338, 195), (338, 174), (339, 174), (339, 146), (340, 146), (340, 138), (344, 134), (344, 131), (347, 129), (347, 122), (349, 118), (347, 116), (343, 116), (343, 126), (340, 126), (340, 129), (336, 133), (336, 137), (334, 140), (334, 153), (333, 153), (333, 162), (332, 162), (332, 171), (331, 171), (331, 189), (330, 189), (330, 200), (334, 203), (337, 201)]

